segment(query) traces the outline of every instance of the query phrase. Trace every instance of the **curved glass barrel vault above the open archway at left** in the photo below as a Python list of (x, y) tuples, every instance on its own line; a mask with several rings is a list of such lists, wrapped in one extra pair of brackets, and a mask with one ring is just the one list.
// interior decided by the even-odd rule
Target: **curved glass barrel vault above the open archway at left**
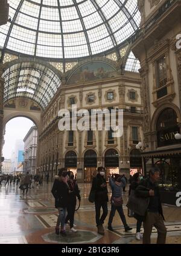
[(48, 67), (36, 62), (19, 62), (5, 70), (4, 102), (24, 97), (36, 101), (42, 109), (48, 106), (57, 89), (60, 78)]

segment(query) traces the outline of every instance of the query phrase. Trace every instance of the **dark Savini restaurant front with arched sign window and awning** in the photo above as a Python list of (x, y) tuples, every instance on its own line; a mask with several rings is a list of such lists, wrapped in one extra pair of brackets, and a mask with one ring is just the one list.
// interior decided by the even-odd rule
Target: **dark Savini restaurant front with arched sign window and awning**
[(174, 109), (164, 109), (156, 122), (157, 149), (142, 153), (144, 174), (148, 176), (151, 166), (160, 169), (160, 193), (162, 203), (176, 205), (176, 194), (181, 191), (181, 140), (178, 116)]

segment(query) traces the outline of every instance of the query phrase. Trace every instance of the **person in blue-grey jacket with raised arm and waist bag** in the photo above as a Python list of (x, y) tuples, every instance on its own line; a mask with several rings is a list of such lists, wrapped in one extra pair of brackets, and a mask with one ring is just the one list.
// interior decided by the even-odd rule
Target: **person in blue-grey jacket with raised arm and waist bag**
[(109, 215), (109, 222), (108, 222), (108, 229), (110, 231), (113, 231), (112, 228), (112, 221), (113, 217), (115, 216), (116, 210), (118, 211), (118, 214), (121, 218), (121, 221), (124, 225), (125, 232), (132, 230), (132, 227), (129, 227), (126, 220), (125, 215), (122, 209), (122, 184), (125, 185), (125, 181), (122, 180), (121, 175), (116, 174), (115, 175), (115, 181), (113, 181), (112, 177), (109, 176), (109, 183), (110, 187), (112, 189), (112, 198), (111, 198), (111, 211)]

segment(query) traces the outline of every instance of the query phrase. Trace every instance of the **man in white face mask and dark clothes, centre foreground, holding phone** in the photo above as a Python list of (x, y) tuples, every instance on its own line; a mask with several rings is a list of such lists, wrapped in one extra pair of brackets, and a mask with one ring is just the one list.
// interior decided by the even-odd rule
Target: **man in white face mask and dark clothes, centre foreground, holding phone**
[[(104, 167), (98, 167), (97, 176), (92, 180), (92, 190), (95, 191), (95, 220), (97, 224), (98, 233), (104, 235), (104, 220), (107, 217), (107, 184), (105, 180), (105, 169)], [(101, 215), (101, 207), (103, 209), (103, 214)]]

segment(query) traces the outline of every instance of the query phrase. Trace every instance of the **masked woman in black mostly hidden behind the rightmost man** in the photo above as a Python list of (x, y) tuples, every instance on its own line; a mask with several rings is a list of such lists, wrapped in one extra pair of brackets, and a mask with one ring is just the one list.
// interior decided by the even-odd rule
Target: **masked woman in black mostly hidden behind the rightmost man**
[[(136, 187), (138, 187), (141, 180), (142, 180), (142, 174), (140, 172), (136, 172), (132, 177), (132, 183), (130, 184), (129, 195), (131, 194), (131, 190), (136, 190)], [(134, 214), (134, 218), (136, 218), (137, 220), (136, 239), (141, 240), (142, 234), (140, 231), (141, 231), (142, 220), (138, 214)]]

